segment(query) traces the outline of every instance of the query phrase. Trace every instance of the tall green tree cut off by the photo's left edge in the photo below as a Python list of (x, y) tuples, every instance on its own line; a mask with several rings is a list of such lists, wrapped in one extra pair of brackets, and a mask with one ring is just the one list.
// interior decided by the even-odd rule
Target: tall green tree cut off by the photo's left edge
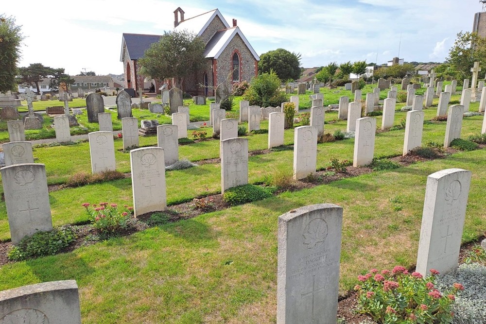
[(14, 17), (0, 14), (0, 92), (15, 91), (20, 43), (24, 39)]

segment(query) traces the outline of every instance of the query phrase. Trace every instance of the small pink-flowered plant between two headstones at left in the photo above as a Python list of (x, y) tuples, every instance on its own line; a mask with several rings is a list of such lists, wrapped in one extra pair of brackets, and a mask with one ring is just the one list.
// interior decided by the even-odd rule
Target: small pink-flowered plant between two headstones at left
[(102, 233), (114, 233), (120, 229), (127, 228), (127, 222), (130, 219), (133, 207), (123, 205), (118, 207), (117, 204), (100, 203), (90, 205), (84, 203), (89, 221), (94, 228)]

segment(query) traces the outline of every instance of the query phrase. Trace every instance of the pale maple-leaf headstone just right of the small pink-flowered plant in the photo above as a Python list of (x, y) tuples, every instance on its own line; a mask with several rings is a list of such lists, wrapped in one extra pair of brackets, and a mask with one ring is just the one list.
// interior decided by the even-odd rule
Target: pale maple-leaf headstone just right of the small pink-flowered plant
[(130, 167), (135, 217), (166, 210), (164, 149), (148, 147), (130, 151)]

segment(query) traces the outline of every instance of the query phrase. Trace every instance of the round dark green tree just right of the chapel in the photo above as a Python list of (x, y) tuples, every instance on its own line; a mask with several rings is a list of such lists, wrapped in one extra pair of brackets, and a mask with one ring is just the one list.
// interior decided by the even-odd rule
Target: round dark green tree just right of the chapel
[(300, 78), (300, 53), (284, 49), (268, 51), (260, 55), (258, 71), (260, 74), (275, 71), (280, 80), (297, 80)]

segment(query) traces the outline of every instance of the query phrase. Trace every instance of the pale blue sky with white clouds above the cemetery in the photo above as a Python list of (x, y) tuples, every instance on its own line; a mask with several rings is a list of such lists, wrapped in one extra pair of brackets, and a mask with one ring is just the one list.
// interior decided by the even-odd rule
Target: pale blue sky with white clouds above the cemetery
[[(336, 61), (385, 63), (447, 57), (460, 31), (471, 31), (478, 0), (78, 0), (4, 1), (27, 38), (20, 66), (42, 63), (77, 74), (123, 72), (121, 34), (163, 34), (174, 10), (185, 17), (218, 8), (232, 18), (260, 55), (284, 48), (302, 55), (304, 67)], [(401, 45), (399, 53), (399, 43)]]

